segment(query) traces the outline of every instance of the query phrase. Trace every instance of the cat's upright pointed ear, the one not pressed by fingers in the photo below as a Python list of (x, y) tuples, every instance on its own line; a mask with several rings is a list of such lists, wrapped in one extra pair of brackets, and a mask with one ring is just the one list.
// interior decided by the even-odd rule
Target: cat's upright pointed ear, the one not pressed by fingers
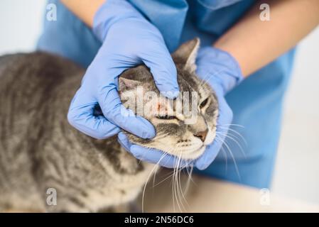
[(186, 43), (180, 45), (180, 47), (173, 52), (172, 57), (175, 64), (185, 65), (185, 70), (190, 72), (195, 72), (196, 70), (196, 56), (198, 53), (198, 48), (200, 47), (200, 39), (194, 38)]

